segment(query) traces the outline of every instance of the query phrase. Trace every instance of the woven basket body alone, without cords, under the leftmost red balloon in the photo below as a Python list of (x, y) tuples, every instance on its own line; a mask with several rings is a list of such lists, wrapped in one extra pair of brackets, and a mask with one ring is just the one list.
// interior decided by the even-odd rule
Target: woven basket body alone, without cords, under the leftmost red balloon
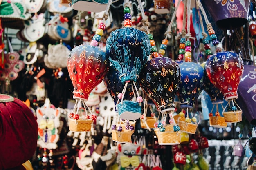
[(91, 119), (68, 119), (69, 130), (73, 132), (90, 132), (92, 128)]

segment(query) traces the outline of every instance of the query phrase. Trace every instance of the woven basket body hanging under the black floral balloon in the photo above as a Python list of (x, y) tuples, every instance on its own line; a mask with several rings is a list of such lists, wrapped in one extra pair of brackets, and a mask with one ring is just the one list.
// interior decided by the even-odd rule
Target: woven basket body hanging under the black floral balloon
[(173, 125), (168, 124), (165, 126), (165, 132), (160, 132), (159, 128), (156, 128), (155, 134), (159, 145), (177, 145), (180, 144), (180, 131), (174, 132)]

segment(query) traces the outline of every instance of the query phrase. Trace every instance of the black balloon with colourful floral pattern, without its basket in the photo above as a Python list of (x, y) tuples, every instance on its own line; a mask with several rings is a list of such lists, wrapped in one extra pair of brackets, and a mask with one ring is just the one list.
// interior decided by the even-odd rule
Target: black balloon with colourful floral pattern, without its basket
[(174, 111), (174, 98), (180, 84), (180, 68), (176, 62), (168, 57), (148, 60), (139, 75), (139, 84), (162, 113)]

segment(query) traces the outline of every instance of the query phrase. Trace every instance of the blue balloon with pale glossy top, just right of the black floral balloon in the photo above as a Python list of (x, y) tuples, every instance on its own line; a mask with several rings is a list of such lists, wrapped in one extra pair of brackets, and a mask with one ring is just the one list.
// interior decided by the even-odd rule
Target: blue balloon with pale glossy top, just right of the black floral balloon
[(180, 66), (180, 86), (177, 96), (181, 108), (192, 108), (203, 90), (204, 69), (194, 62), (183, 62)]

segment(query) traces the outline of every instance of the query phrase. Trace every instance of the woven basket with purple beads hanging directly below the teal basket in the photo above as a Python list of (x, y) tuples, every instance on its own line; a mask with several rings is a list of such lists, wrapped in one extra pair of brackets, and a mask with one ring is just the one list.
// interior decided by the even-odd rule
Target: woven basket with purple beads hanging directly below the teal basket
[(132, 134), (134, 131), (126, 130), (119, 132), (117, 130), (112, 130), (112, 140), (119, 143), (128, 143), (132, 140)]

